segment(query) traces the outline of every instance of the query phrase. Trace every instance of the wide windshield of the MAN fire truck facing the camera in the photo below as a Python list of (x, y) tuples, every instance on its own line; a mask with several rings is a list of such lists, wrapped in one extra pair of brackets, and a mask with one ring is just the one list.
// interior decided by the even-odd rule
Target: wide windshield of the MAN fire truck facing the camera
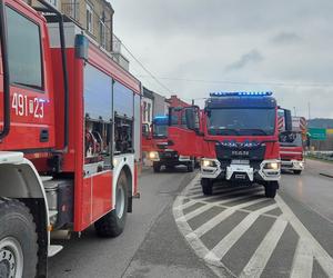
[(273, 108), (216, 108), (208, 111), (212, 136), (271, 136), (275, 130)]

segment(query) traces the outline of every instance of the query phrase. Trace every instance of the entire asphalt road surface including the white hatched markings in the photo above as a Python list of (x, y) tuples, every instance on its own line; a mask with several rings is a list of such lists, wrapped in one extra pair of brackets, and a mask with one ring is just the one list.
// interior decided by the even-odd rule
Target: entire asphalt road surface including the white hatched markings
[(196, 173), (140, 178), (123, 235), (93, 228), (50, 260), (52, 277), (333, 277), (333, 165), (309, 160), (284, 173), (275, 200), (263, 189), (216, 185), (203, 197)]

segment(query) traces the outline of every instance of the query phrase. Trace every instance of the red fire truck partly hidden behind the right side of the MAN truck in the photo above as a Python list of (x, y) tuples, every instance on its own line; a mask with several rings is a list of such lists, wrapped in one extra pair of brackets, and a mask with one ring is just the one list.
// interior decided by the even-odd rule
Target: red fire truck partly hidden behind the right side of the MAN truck
[(306, 120), (304, 117), (292, 117), (292, 130), (290, 131), (285, 130), (283, 113), (279, 120), (283, 123), (279, 127), (281, 169), (301, 175), (305, 166), (303, 142), (306, 138)]

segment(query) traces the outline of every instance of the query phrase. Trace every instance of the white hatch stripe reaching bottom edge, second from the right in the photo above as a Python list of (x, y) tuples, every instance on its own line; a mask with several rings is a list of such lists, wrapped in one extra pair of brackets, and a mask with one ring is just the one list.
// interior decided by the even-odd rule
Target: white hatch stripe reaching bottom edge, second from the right
[(270, 231), (261, 241), (260, 246), (244, 267), (240, 278), (259, 278), (271, 258), (281, 236), (283, 235), (287, 221), (278, 218)]

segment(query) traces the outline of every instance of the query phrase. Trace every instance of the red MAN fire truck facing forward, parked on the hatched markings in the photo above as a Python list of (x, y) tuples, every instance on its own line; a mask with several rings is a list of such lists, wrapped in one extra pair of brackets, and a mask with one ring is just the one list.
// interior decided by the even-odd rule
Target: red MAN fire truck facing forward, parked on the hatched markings
[[(171, 110), (170, 115), (172, 116)], [(202, 157), (201, 185), (213, 193), (213, 182), (258, 182), (274, 198), (280, 180), (278, 106), (271, 92), (211, 93), (202, 113), (184, 108), (186, 128), (169, 128), (178, 151)]]

